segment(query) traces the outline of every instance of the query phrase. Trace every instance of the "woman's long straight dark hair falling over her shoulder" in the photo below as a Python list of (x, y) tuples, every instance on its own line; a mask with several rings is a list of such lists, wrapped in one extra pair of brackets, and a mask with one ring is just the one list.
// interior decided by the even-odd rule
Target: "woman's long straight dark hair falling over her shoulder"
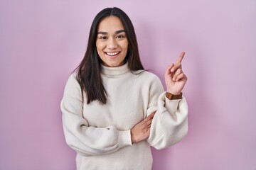
[(107, 16), (117, 16), (124, 25), (129, 49), (125, 60), (128, 62), (129, 70), (131, 72), (144, 70), (139, 57), (139, 48), (132, 21), (129, 19), (127, 14), (119, 8), (114, 7), (103, 9), (100, 13), (97, 13), (97, 16), (95, 16), (92, 21), (85, 57), (82, 59), (77, 69), (75, 69), (78, 71), (76, 79), (81, 87), (82, 102), (84, 101), (85, 92), (87, 96), (87, 104), (95, 100), (98, 100), (102, 104), (107, 103), (107, 91), (105, 90), (100, 77), (101, 60), (97, 54), (96, 48), (97, 29), (99, 23)]

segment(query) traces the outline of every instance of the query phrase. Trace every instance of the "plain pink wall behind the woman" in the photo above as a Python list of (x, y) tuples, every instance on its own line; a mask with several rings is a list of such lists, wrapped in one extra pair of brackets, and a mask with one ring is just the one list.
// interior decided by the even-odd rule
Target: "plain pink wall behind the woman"
[(60, 100), (92, 19), (112, 6), (132, 19), (144, 67), (161, 80), (186, 51), (188, 136), (152, 149), (153, 169), (255, 170), (255, 0), (0, 0), (0, 169), (75, 169)]

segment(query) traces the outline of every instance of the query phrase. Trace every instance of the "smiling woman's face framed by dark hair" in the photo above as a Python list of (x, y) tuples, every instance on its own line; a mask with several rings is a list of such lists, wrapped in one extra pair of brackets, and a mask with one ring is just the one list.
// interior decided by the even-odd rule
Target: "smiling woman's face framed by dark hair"
[(118, 67), (125, 63), (128, 40), (122, 21), (117, 16), (108, 16), (100, 22), (96, 47), (103, 65)]

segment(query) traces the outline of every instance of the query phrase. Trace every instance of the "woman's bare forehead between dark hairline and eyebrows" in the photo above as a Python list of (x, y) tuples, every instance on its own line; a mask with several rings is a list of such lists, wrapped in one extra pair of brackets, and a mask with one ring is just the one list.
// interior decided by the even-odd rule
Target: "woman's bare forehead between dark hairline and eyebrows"
[(100, 21), (98, 26), (98, 31), (111, 32), (116, 30), (124, 30), (124, 25), (117, 16), (107, 16)]

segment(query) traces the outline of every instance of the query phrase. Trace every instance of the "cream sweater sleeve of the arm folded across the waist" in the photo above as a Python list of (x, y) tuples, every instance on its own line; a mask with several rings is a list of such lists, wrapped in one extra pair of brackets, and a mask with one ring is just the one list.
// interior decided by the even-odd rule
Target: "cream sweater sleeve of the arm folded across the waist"
[(60, 108), (65, 140), (76, 152), (82, 155), (108, 154), (132, 145), (130, 130), (120, 131), (112, 125), (105, 128), (88, 125), (86, 118), (83, 118), (80, 85), (74, 74), (65, 86)]

